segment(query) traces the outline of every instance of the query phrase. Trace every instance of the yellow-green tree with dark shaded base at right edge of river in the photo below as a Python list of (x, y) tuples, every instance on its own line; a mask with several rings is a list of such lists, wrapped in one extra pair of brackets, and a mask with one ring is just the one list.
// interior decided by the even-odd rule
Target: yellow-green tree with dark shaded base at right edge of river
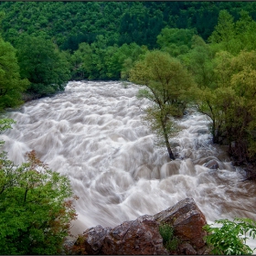
[[(255, 51), (216, 54), (213, 82), (197, 89), (197, 111), (211, 119), (213, 142), (229, 145), (234, 163), (255, 162)], [(255, 176), (255, 170), (253, 169)]]

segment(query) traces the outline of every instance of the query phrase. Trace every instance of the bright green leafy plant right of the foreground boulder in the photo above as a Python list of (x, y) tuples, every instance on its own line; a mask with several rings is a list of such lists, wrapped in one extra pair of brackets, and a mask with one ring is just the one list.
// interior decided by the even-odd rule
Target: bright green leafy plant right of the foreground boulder
[(246, 240), (256, 238), (256, 222), (252, 219), (219, 219), (215, 221), (221, 227), (206, 225), (204, 229), (208, 232), (206, 241), (212, 246), (213, 254), (252, 254), (251, 248)]

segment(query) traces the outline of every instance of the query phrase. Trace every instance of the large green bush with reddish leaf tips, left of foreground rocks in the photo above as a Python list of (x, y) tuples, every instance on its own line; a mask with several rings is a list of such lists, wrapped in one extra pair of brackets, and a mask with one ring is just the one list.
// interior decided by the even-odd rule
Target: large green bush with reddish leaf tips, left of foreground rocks
[(69, 179), (35, 151), (16, 166), (0, 155), (0, 254), (59, 254), (76, 218)]

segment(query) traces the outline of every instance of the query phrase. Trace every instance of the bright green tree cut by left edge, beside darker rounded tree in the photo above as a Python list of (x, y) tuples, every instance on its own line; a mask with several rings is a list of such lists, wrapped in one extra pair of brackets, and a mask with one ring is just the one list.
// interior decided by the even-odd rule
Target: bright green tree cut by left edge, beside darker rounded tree
[(16, 49), (0, 37), (0, 111), (20, 105), (28, 84), (20, 78)]

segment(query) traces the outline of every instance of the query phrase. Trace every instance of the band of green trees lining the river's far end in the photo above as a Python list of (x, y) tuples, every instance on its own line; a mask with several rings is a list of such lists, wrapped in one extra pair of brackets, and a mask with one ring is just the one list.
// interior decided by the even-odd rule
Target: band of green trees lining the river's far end
[(81, 43), (71, 56), (72, 79), (125, 80), (133, 63), (146, 51), (135, 43), (107, 47), (105, 38), (98, 36), (91, 45)]

